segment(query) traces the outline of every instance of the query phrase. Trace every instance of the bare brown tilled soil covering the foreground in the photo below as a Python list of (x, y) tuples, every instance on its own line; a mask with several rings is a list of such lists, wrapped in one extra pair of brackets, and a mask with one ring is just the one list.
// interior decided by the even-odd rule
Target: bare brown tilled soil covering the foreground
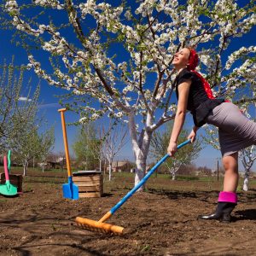
[(104, 183), (104, 196), (62, 198), (64, 174), (29, 172), (23, 195), (0, 196), (0, 255), (256, 255), (256, 185), (239, 192), (232, 222), (198, 221), (216, 207), (221, 182), (150, 177), (109, 220), (124, 236), (83, 230), (77, 216), (98, 220), (132, 188), (132, 177)]

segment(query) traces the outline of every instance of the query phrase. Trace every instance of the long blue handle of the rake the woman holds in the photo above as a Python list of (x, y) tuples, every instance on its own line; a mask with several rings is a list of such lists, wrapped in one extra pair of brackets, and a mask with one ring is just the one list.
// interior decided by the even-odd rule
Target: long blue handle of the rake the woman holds
[[(179, 144), (177, 146), (177, 149), (182, 148), (189, 143), (191, 143), (191, 140)], [(155, 166), (153, 166), (152, 169), (147, 173), (147, 175), (145, 175), (143, 179), (139, 183), (137, 183), (137, 185), (133, 189), (131, 189), (131, 191), (129, 191), (114, 207), (111, 208), (109, 213), (113, 215), (113, 213), (116, 212), (119, 207), (121, 207), (125, 203), (125, 201), (127, 201), (131, 197), (131, 195), (133, 195), (137, 191), (137, 189), (139, 189), (141, 186), (143, 186), (144, 183), (146, 183), (148, 177), (150, 177), (152, 173), (157, 169), (157, 167), (159, 167), (169, 156), (169, 154), (166, 154), (159, 162), (157, 162)]]

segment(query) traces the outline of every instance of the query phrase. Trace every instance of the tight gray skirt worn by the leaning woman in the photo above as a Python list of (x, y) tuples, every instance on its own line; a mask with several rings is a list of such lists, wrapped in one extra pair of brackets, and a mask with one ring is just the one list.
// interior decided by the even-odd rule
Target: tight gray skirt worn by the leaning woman
[(212, 109), (207, 124), (218, 127), (221, 154), (227, 156), (256, 145), (256, 123), (241, 113), (231, 102), (224, 102)]

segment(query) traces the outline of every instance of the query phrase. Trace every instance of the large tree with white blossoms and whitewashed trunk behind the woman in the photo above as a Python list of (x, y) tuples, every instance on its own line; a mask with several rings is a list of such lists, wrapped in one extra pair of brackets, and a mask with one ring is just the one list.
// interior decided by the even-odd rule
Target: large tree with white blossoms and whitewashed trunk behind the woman
[[(255, 85), (253, 59), (241, 60), (256, 47), (232, 45), (255, 24), (253, 1), (245, 2), (241, 7), (231, 0), (9, 0), (5, 7), (20, 35), (27, 34), (27, 42), (36, 38), (52, 64), (50, 70), (45, 56), (43, 61), (27, 48), (28, 67), (51, 85), (93, 99), (79, 105), (81, 122), (108, 114), (128, 123), (137, 183), (153, 132), (175, 115), (170, 64), (178, 49), (201, 49), (201, 72), (216, 96), (232, 99), (247, 84)], [(233, 51), (226, 58), (228, 49)]]

